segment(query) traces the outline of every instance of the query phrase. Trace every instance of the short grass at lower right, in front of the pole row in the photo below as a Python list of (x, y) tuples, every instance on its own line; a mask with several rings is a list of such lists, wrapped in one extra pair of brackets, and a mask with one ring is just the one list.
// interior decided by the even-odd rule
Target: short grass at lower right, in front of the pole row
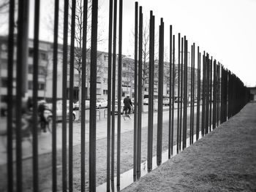
[(124, 191), (256, 191), (256, 103)]

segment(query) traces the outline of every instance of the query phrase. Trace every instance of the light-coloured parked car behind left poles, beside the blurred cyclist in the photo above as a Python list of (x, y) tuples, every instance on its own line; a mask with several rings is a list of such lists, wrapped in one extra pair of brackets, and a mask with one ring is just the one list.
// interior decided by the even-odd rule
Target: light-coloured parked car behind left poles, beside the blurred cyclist
[[(44, 114), (45, 118), (46, 119), (53, 118), (53, 113), (50, 112), (50, 111), (53, 110), (53, 104), (47, 103), (47, 104), (45, 104), (45, 106), (46, 106), (46, 109), (48, 109), (48, 110), (45, 110), (45, 114)], [(62, 104), (60, 104), (58, 102), (56, 104), (56, 118), (57, 118), (56, 119), (57, 121), (63, 120), (63, 118), (62, 118)], [(67, 120), (69, 120), (69, 109), (68, 109), (68, 107), (67, 107)], [(72, 112), (72, 120), (73, 121), (75, 120), (75, 112)]]

